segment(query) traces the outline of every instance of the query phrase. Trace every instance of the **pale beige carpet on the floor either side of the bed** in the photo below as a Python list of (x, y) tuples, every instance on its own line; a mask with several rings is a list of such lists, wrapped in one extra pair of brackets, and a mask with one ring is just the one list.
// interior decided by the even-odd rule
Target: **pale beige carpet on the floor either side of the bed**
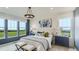
[[(15, 51), (16, 50), (15, 43), (16, 41), (0, 45), (0, 51)], [(52, 48), (50, 48), (48, 51), (76, 51), (76, 49), (67, 48), (64, 46), (52, 45)]]

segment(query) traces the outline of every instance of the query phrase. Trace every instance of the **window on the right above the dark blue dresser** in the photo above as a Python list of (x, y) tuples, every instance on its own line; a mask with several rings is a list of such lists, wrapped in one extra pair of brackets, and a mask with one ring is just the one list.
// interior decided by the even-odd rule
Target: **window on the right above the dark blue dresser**
[(71, 19), (70, 18), (62, 18), (59, 20), (59, 26), (61, 30), (62, 36), (71, 36)]

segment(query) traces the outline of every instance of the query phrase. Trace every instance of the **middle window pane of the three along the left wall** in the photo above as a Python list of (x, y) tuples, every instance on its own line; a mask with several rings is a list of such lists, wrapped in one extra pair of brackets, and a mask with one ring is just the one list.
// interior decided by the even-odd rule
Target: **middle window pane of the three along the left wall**
[(8, 37), (17, 35), (17, 21), (8, 20)]

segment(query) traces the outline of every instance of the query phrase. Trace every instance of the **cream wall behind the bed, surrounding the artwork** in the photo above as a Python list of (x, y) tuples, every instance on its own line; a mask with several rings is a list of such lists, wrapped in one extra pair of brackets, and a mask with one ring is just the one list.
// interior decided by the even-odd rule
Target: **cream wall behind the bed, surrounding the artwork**
[[(44, 16), (44, 17), (43, 17)], [(41, 28), (39, 26), (39, 20), (43, 19), (52, 19), (52, 27), (51, 28)], [(59, 27), (58, 27), (58, 17), (57, 15), (42, 15), (42, 16), (36, 16), (36, 18), (31, 20), (31, 30), (32, 31), (46, 31), (49, 32), (50, 34), (55, 34), (56, 32), (59, 32)], [(58, 33), (59, 34), (59, 33)]]

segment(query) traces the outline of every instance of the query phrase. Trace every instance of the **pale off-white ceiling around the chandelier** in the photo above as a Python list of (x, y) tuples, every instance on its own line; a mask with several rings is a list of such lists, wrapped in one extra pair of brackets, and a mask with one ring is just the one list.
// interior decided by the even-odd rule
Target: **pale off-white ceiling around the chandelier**
[[(32, 12), (34, 15), (47, 15), (47, 14), (58, 14), (68, 11), (73, 11), (74, 7), (32, 7)], [(0, 7), (0, 12), (14, 15), (18, 17), (24, 17), (24, 14), (27, 12), (27, 7)]]

